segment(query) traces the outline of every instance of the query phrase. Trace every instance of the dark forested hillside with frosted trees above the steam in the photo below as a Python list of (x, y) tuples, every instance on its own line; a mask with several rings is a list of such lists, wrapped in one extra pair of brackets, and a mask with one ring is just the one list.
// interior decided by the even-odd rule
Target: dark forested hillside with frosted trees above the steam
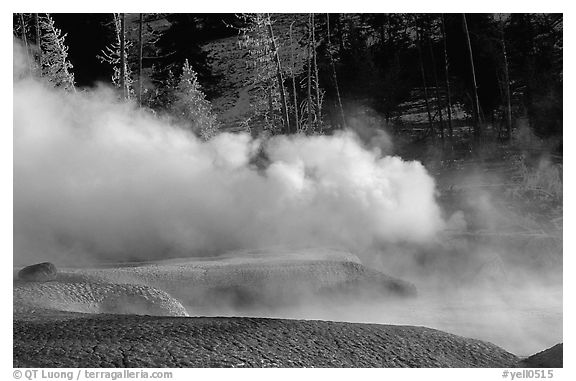
[(428, 141), (505, 142), (522, 120), (561, 155), (562, 14), (13, 17), (34, 75), (110, 83), (205, 139), (329, 133), (362, 105)]

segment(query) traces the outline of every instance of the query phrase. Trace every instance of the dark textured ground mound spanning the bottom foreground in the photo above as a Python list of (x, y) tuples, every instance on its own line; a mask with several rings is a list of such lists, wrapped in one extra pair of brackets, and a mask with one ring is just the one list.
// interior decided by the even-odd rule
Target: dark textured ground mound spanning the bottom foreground
[(515, 367), (486, 342), (413, 326), (256, 318), (14, 315), (14, 367)]

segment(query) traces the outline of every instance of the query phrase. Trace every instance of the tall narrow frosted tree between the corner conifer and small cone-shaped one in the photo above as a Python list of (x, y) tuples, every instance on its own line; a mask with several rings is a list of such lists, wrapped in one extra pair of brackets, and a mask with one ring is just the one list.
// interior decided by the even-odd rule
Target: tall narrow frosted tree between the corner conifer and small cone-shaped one
[(126, 39), (124, 17), (121, 13), (114, 13), (114, 30), (116, 41), (102, 50), (98, 58), (101, 62), (113, 66), (112, 83), (122, 90), (125, 98), (131, 99), (135, 95), (132, 70), (128, 65), (128, 51), (132, 43)]

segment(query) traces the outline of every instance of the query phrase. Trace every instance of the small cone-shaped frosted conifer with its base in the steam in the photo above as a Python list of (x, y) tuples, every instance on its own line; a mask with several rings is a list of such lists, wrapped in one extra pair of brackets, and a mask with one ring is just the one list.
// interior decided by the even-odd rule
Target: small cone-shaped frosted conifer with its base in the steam
[(216, 116), (212, 113), (212, 106), (202, 91), (198, 75), (188, 60), (182, 66), (182, 74), (171, 106), (173, 115), (184, 121), (202, 139), (208, 140), (216, 135)]

